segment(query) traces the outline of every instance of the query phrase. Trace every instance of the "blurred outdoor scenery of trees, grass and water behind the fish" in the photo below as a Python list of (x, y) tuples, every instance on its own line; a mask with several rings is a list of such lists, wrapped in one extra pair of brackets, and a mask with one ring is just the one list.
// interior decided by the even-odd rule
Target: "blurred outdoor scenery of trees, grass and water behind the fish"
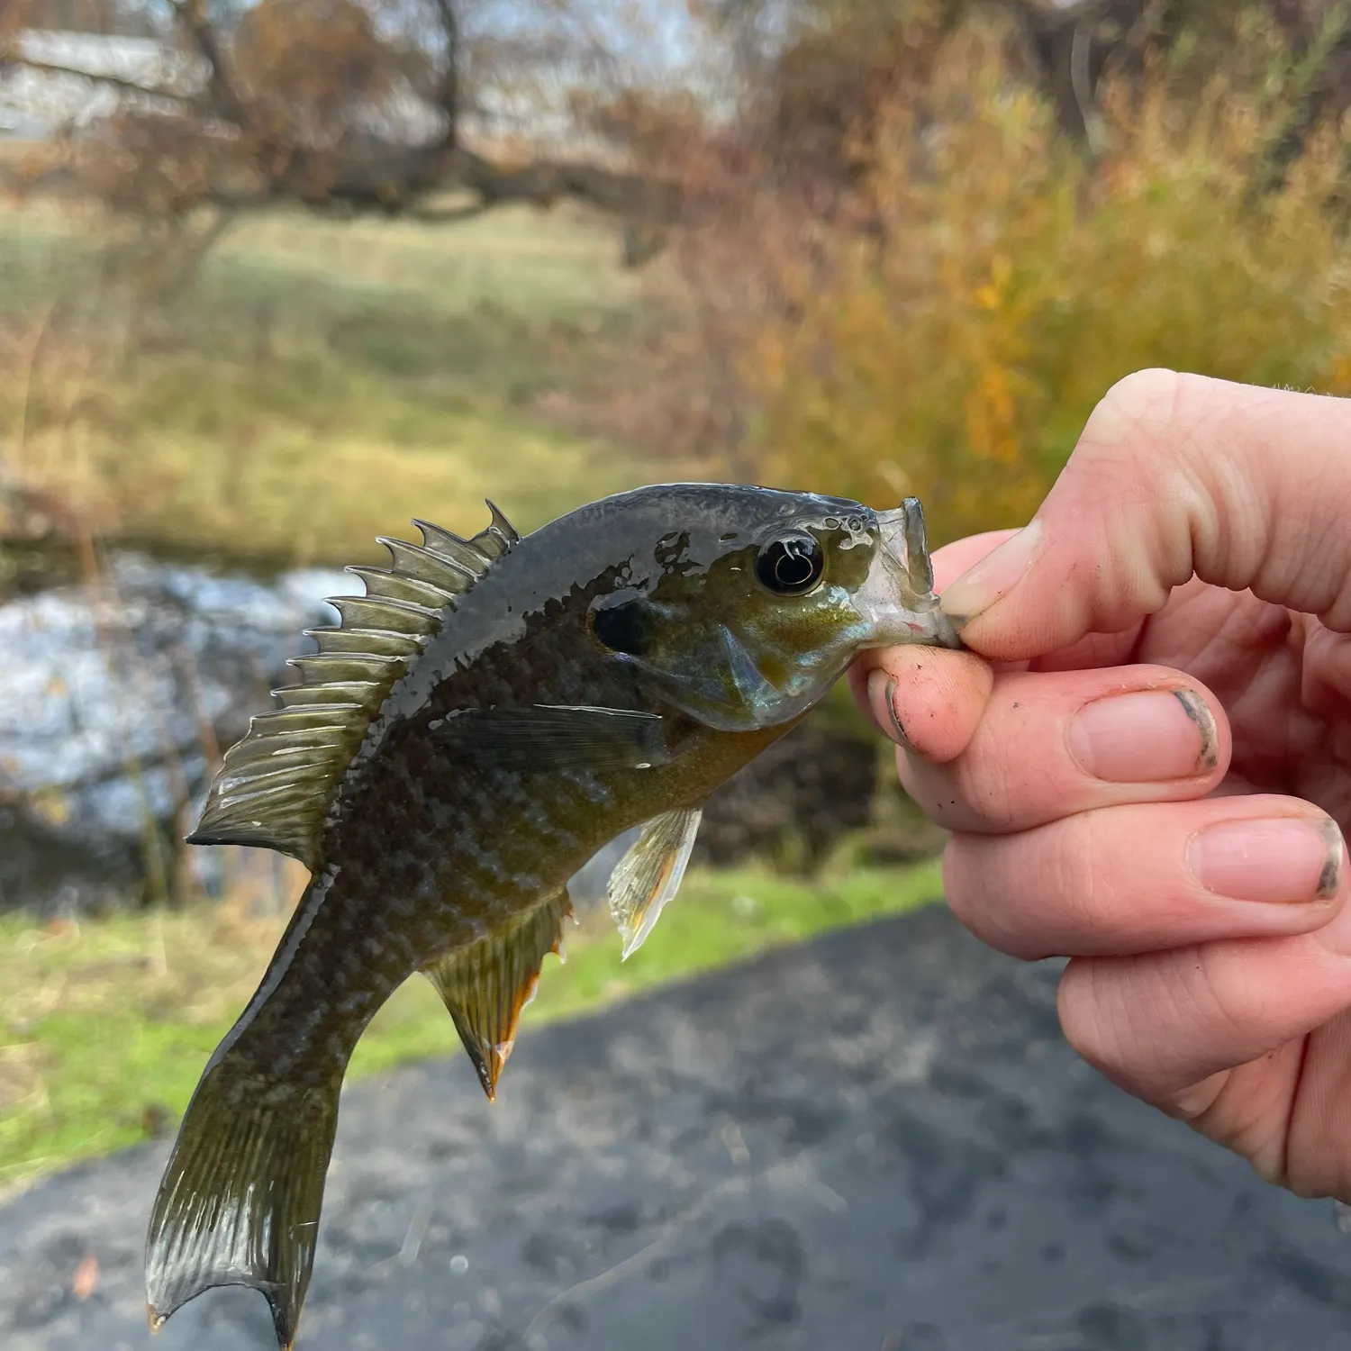
[[(730, 478), (942, 543), (1133, 369), (1348, 393), (1348, 104), (1320, 0), (4, 0), (0, 1193), (176, 1127), (303, 882), (181, 838), (376, 535)], [(527, 1025), (940, 844), (832, 697)], [(354, 1073), (453, 1050), (415, 984)]]

